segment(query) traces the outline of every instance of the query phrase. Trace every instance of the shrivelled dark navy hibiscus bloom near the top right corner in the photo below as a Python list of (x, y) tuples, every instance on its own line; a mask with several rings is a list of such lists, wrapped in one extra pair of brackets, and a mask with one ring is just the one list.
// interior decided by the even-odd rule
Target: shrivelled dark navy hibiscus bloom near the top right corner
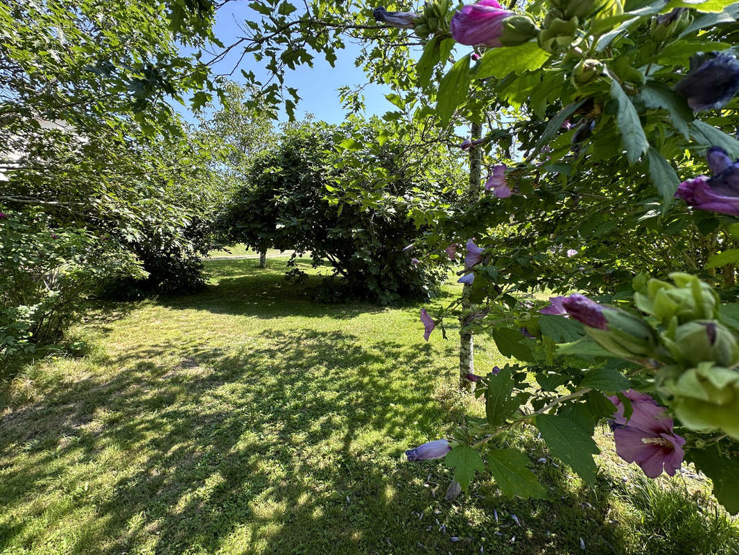
[(722, 108), (739, 91), (739, 61), (729, 54), (715, 55), (688, 73), (675, 91), (686, 98), (694, 112)]

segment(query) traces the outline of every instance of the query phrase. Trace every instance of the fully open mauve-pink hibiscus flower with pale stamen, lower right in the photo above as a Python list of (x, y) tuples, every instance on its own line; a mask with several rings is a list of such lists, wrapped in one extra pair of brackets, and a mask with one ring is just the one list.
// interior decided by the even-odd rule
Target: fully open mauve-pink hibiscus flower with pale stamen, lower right
[(685, 440), (672, 429), (672, 418), (665, 417), (665, 408), (647, 394), (633, 389), (623, 394), (633, 408), (628, 421), (619, 397), (608, 397), (616, 406), (611, 423), (616, 453), (626, 462), (636, 462), (647, 477), (656, 478), (663, 470), (674, 476), (685, 457)]

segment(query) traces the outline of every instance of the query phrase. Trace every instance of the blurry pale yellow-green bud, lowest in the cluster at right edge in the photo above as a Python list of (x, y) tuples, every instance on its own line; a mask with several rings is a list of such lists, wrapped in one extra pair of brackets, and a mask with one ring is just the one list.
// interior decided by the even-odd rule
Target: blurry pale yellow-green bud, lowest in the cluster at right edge
[(688, 428), (718, 429), (739, 439), (739, 371), (699, 363), (672, 388), (672, 408)]

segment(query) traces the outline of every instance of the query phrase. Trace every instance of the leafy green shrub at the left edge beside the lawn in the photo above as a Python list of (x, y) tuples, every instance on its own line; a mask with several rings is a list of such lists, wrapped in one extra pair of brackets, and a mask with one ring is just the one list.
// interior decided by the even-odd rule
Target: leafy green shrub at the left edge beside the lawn
[(112, 238), (55, 226), (38, 210), (0, 210), (0, 357), (58, 340), (104, 281), (145, 277)]

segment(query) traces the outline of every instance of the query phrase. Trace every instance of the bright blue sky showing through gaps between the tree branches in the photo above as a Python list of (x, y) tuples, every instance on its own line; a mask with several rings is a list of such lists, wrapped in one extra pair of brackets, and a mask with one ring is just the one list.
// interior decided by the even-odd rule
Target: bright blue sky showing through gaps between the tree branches
[[(239, 24), (246, 18), (259, 21), (259, 15), (248, 7), (247, 1), (228, 2), (218, 10), (214, 33), (223, 44), (228, 46), (228, 44), (236, 41), (236, 38), (244, 35), (242, 30), (239, 29)], [(188, 53), (185, 49), (183, 49), (183, 52)], [(346, 112), (341, 107), (337, 89), (343, 85), (354, 87), (367, 83), (364, 72), (354, 65), (358, 52), (359, 47), (357, 45), (347, 42), (346, 48), (337, 52), (336, 67), (331, 67), (322, 57), (316, 57), (312, 68), (299, 66), (296, 70), (287, 70), (285, 84), (287, 87), (295, 87), (302, 98), (296, 108), (296, 118), (301, 119), (304, 114), (310, 113), (317, 119), (329, 123), (344, 121)], [(239, 47), (234, 48), (231, 53), (213, 67), (214, 73), (231, 72), (239, 61), (241, 54), (242, 50), (239, 50)], [(208, 54), (204, 53), (203, 59), (207, 60)], [(267, 75), (262, 67), (253, 60), (251, 54), (245, 55), (239, 68), (234, 71), (232, 76), (234, 81), (244, 81), (240, 70), (253, 71), (257, 78)], [(384, 97), (388, 92), (390, 90), (387, 87), (368, 85), (364, 89), (365, 115), (381, 115), (388, 110), (394, 110), (395, 107)], [(194, 121), (194, 116), (186, 108), (178, 105), (177, 111), (188, 121)], [(285, 119), (287, 119), (287, 115), (281, 113), (280, 120), (284, 121)]]

